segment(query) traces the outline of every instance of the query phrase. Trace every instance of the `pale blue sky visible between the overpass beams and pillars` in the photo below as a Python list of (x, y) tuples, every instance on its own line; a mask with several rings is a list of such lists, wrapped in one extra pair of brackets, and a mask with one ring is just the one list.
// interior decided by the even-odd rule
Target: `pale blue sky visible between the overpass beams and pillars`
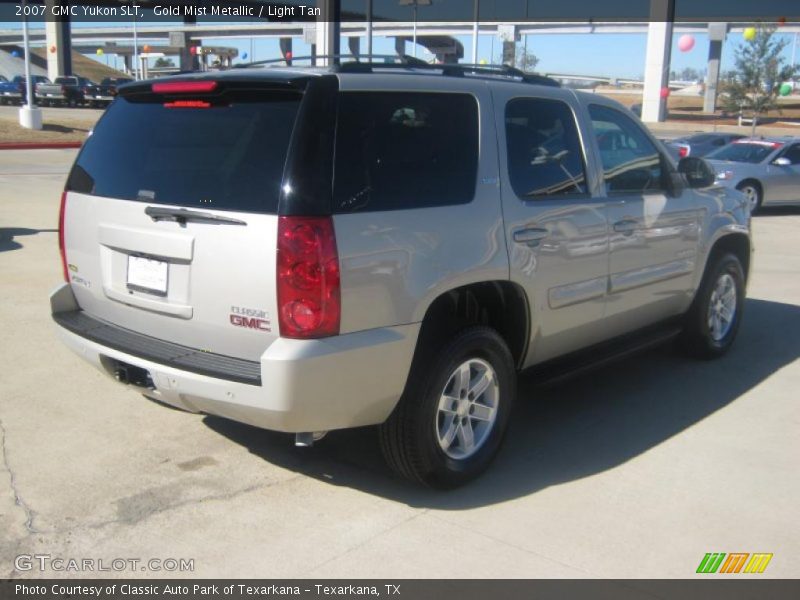
[[(118, 26), (127, 26), (126, 23), (115, 23)], [(19, 23), (0, 22), (0, 29), (18, 28)], [(74, 23), (73, 27), (97, 26), (92, 23)], [(784, 56), (787, 61), (792, 60), (793, 34), (778, 34), (787, 39), (787, 48)], [(695, 46), (689, 52), (680, 52), (677, 47), (679, 34), (673, 36), (671, 69), (680, 72), (685, 67), (698, 70), (705, 68), (708, 57), (708, 36), (694, 34)], [(525, 36), (521, 45), (527, 39), (527, 49), (539, 58), (536, 67), (540, 72), (574, 73), (579, 75), (598, 75), (610, 77), (636, 78), (644, 72), (645, 34), (542, 34)], [(472, 37), (460, 36), (459, 40), (464, 45), (465, 60), (472, 56)], [(741, 34), (731, 33), (723, 45), (722, 69), (733, 66), (735, 48), (742, 43)], [(250, 40), (208, 39), (205, 43), (213, 46), (232, 46), (239, 49), (240, 57), (248, 54), (247, 60), (266, 60), (278, 58), (277, 39)], [(362, 41), (362, 51), (366, 44)], [(342, 44), (343, 49), (346, 43)], [(394, 39), (376, 37), (373, 41), (376, 54), (394, 53)], [(252, 50), (251, 50), (252, 49)], [(478, 58), (488, 62), (499, 62), (502, 43), (499, 38), (490, 35), (480, 36), (478, 44)], [(155, 51), (155, 47), (153, 48)], [(407, 52), (411, 53), (411, 44), (407, 44)], [(302, 40), (294, 40), (295, 56), (310, 53), (310, 47)], [(800, 41), (795, 51), (796, 60), (800, 62)], [(429, 57), (420, 48), (418, 55), (421, 58)], [(98, 58), (98, 57), (95, 57)], [(113, 66), (114, 57), (105, 56), (98, 58)], [(120, 61), (121, 63), (121, 61)]]

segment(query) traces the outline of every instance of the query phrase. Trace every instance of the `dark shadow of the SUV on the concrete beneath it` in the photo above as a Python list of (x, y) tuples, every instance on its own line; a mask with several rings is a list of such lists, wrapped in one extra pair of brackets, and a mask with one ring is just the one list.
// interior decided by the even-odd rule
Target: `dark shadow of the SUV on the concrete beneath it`
[(477, 481), (448, 493), (393, 476), (375, 428), (331, 432), (312, 448), (296, 449), (287, 434), (210, 416), (205, 423), (272, 464), (331, 485), (410, 506), (463, 510), (617, 467), (713, 415), (798, 357), (800, 306), (750, 299), (737, 343), (723, 359), (695, 361), (665, 347), (558, 385), (537, 385), (523, 375), (497, 460)]

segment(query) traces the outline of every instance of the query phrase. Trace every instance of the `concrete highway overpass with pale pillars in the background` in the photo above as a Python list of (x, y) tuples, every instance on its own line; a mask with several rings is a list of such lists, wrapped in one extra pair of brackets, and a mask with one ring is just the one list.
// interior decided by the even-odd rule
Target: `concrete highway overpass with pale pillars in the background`
[[(55, 0), (45, 0), (52, 3)], [(69, 23), (47, 22), (45, 30), (31, 30), (33, 44), (45, 44), (54, 48), (48, 53), (48, 73), (51, 78), (70, 71), (68, 53), (71, 44), (85, 48), (102, 48), (105, 53), (120, 55), (138, 54), (138, 47), (145, 44), (156, 49), (168, 46), (170, 52), (180, 56), (182, 70), (198, 68), (198, 57), (190, 52), (192, 46), (202, 46), (204, 40), (234, 40), (253, 38), (279, 38), (282, 49), (291, 48), (291, 40), (302, 38), (312, 44), (320, 55), (338, 55), (339, 39), (348, 40), (350, 51), (359, 53), (359, 41), (367, 39), (371, 48), (372, 37), (395, 38), (396, 48), (401, 52), (405, 43), (416, 43), (430, 50), (439, 62), (456, 62), (463, 57), (463, 45), (456, 36), (498, 36), (503, 41), (505, 59), (512, 59), (514, 44), (525, 35), (552, 34), (647, 34), (647, 51), (644, 57), (644, 89), (642, 118), (645, 121), (661, 121), (665, 116), (666, 100), (662, 90), (669, 87), (670, 52), (673, 33), (707, 33), (709, 39), (708, 68), (704, 110), (713, 112), (716, 106), (716, 90), (719, 79), (719, 62), (722, 43), (729, 33), (741, 33), (752, 22), (738, 23), (674, 23), (673, 0), (649, 0), (651, 21), (641, 22), (336, 22), (333, 0), (318, 0), (322, 14), (316, 22), (269, 22), (247, 24), (198, 24), (184, 22), (175, 24), (153, 24), (127, 27), (86, 27), (70, 30)], [(753, 19), (758, 17), (754, 16)], [(786, 23), (786, 33), (800, 33), (800, 24)], [(0, 30), (0, 46), (21, 42), (18, 30)], [(124, 49), (124, 48), (130, 49)], [(367, 50), (369, 53), (369, 50)], [(477, 55), (473, 52), (474, 62)], [(324, 64), (324, 59), (319, 64)], [(584, 79), (584, 78), (581, 78)], [(598, 77), (598, 79), (605, 79)]]

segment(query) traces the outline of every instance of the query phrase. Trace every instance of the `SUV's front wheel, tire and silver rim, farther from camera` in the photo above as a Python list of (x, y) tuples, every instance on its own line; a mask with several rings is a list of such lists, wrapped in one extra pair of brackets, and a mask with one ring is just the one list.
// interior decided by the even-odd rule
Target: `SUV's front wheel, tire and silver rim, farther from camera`
[(686, 315), (683, 346), (700, 358), (717, 358), (733, 345), (744, 309), (744, 269), (733, 254), (708, 265)]

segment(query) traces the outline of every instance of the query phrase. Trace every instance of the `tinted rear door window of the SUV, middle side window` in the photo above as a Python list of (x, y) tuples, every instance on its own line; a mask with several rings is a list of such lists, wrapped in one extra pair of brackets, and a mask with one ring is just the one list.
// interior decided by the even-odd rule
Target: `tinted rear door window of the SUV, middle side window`
[(567, 104), (515, 98), (505, 120), (508, 175), (518, 196), (586, 193), (581, 142)]

